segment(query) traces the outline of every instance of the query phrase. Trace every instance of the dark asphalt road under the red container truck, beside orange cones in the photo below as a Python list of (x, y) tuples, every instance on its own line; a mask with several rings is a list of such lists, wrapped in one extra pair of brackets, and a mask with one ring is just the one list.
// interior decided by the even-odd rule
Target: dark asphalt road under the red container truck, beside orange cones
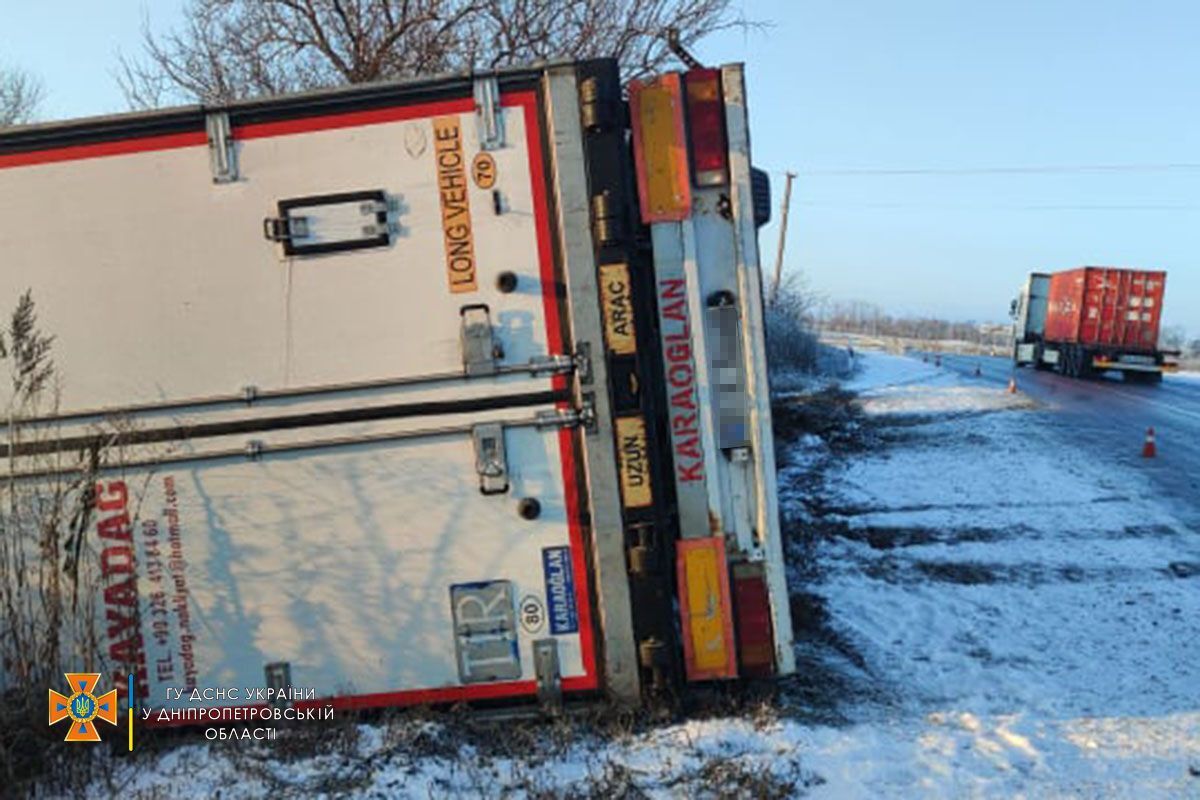
[[(941, 359), (942, 368), (984, 384), (1004, 386), (1015, 375), (1018, 391), (1042, 404), (1037, 413), (1052, 415), (1050, 427), (1060, 441), (1078, 446), (1081, 457), (1144, 470), (1200, 533), (1200, 378), (1166, 375), (1162, 385), (1146, 386), (1124, 384), (1120, 377), (1079, 380), (1028, 367), (1014, 372), (1012, 361), (1002, 357)], [(1141, 457), (1150, 427), (1157, 437), (1153, 459)]]

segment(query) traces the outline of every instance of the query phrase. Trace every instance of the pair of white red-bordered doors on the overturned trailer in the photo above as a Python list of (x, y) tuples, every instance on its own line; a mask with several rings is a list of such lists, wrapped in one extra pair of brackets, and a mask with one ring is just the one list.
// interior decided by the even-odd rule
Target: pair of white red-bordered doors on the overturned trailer
[(56, 336), (48, 425), (124, 420), (100, 618), (150, 706), (596, 687), (538, 85), (5, 142), (0, 297)]

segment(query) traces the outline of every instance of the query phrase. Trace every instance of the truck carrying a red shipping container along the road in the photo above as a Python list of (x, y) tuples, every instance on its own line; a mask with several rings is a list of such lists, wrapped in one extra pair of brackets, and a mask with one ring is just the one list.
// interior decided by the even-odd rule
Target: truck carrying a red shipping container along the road
[(1075, 378), (1121, 372), (1159, 383), (1175, 368), (1158, 349), (1166, 272), (1084, 266), (1034, 272), (1014, 301), (1013, 357)]

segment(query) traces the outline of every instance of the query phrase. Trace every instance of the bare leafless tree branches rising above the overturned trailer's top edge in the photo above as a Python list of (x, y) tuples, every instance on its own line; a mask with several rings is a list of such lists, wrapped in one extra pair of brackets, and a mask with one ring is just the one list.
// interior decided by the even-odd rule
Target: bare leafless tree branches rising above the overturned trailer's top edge
[(119, 79), (149, 108), (552, 58), (611, 55), (636, 77), (670, 58), (667, 28), (689, 46), (746, 24), (731, 0), (191, 0)]

